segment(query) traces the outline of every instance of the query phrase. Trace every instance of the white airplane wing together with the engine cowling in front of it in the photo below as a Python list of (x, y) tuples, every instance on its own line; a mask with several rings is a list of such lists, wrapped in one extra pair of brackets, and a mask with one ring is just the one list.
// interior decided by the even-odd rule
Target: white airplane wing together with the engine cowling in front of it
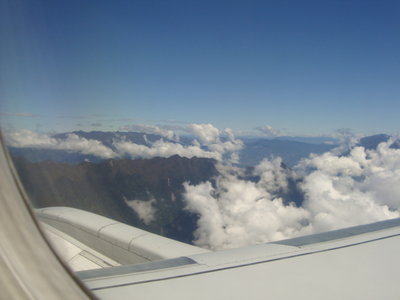
[(77, 272), (100, 299), (400, 295), (400, 219), (210, 252), (73, 208), (41, 209), (38, 216), (47, 226), (89, 244), (87, 253), (116, 262)]

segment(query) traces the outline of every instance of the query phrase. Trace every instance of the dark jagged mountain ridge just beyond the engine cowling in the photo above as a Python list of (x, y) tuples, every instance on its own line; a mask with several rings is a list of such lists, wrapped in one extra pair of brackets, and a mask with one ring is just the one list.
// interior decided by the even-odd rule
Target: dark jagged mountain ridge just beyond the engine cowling
[[(184, 210), (184, 182), (199, 184), (217, 174), (205, 158), (106, 160), (101, 163), (32, 163), (14, 158), (35, 207), (70, 206), (184, 242), (192, 242), (195, 215)], [(145, 225), (126, 200), (155, 199), (156, 220)]]

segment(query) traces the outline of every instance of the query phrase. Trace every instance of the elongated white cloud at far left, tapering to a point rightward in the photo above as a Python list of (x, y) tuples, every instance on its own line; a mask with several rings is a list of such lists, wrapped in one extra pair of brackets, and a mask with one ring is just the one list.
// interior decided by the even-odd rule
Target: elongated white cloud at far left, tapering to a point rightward
[(95, 155), (101, 158), (113, 158), (117, 154), (96, 140), (88, 140), (76, 134), (68, 134), (66, 139), (56, 139), (48, 134), (30, 130), (6, 132), (7, 143), (16, 148), (55, 149), (82, 154)]

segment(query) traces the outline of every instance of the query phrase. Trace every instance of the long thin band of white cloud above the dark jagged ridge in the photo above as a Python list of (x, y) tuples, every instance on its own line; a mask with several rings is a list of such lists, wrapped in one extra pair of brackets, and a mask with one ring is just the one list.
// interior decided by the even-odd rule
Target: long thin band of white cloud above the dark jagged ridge
[(230, 162), (238, 162), (238, 152), (243, 147), (242, 141), (235, 139), (230, 129), (221, 132), (211, 124), (191, 124), (181, 127), (181, 130), (194, 135), (191, 145), (179, 143), (179, 137), (173, 131), (157, 126), (132, 125), (129, 129), (148, 134), (158, 134), (167, 138), (167, 140), (160, 138), (155, 142), (149, 142), (144, 136), (147, 144), (142, 145), (116, 137), (112, 143), (113, 147), (110, 148), (100, 141), (85, 139), (73, 133), (62, 139), (29, 130), (6, 132), (6, 140), (10, 146), (17, 148), (57, 149), (95, 155), (105, 159), (179, 155), (187, 158), (204, 157), (218, 161), (228, 159)]

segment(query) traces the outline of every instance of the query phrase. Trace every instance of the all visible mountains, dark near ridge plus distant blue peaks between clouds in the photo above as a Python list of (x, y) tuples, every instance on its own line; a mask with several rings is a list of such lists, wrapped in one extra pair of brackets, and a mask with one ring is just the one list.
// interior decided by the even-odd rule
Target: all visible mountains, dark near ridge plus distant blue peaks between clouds
[[(112, 143), (114, 137), (111, 133), (78, 134), (87, 139), (101, 140), (104, 144)], [(143, 135), (132, 133), (126, 138), (136, 143), (149, 143), (149, 138)], [(151, 136), (152, 141), (158, 138)], [(387, 135), (370, 136), (361, 139), (358, 145), (374, 149), (388, 139)], [(248, 167), (242, 179), (257, 182), (259, 178), (252, 177), (253, 166), (265, 156), (283, 154), (281, 156), (285, 163), (282, 163), (282, 167), (289, 171), (290, 166), (286, 165), (286, 161), (294, 163), (311, 152), (322, 153), (334, 147), (327, 144), (310, 145), (279, 139), (247, 140), (248, 152), (242, 155)], [(400, 148), (398, 143), (394, 143), (393, 147)], [(215, 178), (219, 175), (216, 161), (208, 158), (189, 159), (174, 155), (168, 158), (95, 160), (95, 157), (90, 157), (93, 161), (87, 162), (88, 156), (61, 150), (34, 149), (24, 152), (16, 148), (11, 149), (11, 153), (34, 207), (70, 206), (84, 209), (186, 243), (193, 241), (198, 216), (185, 209), (183, 183), (197, 185), (210, 181), (215, 185)], [(34, 157), (32, 153), (38, 156)], [(279, 192), (277, 196), (286, 205), (293, 203), (301, 206), (301, 181), (289, 179), (288, 184), (288, 190)], [(155, 214), (153, 222), (145, 222), (130, 206), (130, 202), (135, 200), (151, 205)]]

